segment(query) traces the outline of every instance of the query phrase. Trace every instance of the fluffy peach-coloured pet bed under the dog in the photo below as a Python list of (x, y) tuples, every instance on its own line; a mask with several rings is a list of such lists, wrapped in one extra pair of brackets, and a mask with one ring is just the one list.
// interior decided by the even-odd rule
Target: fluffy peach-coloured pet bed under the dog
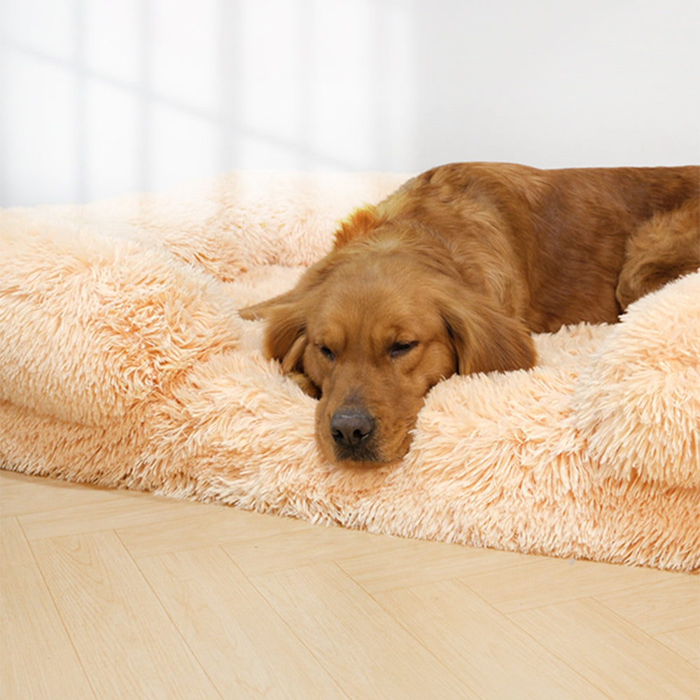
[(0, 211), (0, 465), (372, 532), (700, 565), (700, 274), (528, 372), (430, 392), (402, 463), (323, 461), (314, 400), (236, 310), (290, 288), (403, 176), (234, 173)]

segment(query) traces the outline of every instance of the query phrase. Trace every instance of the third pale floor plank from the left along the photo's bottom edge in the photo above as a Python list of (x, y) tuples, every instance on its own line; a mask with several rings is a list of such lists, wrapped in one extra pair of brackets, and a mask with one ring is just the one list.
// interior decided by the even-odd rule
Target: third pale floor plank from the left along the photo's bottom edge
[(225, 698), (346, 698), (220, 547), (137, 559)]

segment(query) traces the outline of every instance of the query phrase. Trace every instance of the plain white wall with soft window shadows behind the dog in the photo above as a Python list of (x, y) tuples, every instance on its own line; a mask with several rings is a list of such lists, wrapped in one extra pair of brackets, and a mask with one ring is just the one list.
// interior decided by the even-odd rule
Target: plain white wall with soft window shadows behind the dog
[(0, 0), (0, 204), (700, 160), (697, 0)]

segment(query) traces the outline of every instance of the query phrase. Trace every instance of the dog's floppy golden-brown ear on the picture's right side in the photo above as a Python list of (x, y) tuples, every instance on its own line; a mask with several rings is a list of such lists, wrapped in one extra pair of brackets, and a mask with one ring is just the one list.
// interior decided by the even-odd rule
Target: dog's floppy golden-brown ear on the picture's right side
[(440, 313), (457, 356), (458, 374), (528, 370), (537, 356), (532, 336), (482, 295), (445, 294)]

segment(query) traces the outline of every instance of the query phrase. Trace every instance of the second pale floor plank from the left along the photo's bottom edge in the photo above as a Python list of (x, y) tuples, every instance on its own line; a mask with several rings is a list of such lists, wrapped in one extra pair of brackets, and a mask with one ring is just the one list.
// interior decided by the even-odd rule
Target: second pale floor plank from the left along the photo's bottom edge
[(221, 698), (114, 533), (32, 547), (99, 699)]

